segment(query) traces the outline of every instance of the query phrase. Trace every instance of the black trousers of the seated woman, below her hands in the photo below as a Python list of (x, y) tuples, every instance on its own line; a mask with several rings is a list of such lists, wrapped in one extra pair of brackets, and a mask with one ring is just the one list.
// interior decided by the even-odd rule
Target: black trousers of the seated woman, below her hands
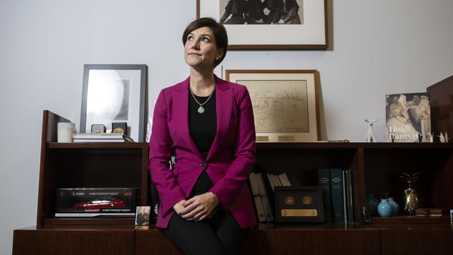
[(230, 212), (219, 210), (210, 219), (193, 222), (175, 213), (162, 230), (187, 255), (238, 254), (250, 229), (241, 229)]

